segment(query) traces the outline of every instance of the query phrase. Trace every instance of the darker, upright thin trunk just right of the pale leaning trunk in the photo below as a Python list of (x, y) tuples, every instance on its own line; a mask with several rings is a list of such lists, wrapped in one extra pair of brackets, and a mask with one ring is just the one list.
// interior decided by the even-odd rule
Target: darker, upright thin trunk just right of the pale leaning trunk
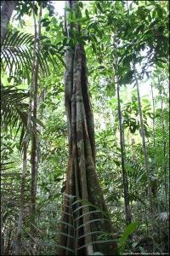
[[(37, 35), (37, 55), (40, 51), (40, 36), (41, 36), (41, 19), (42, 19), (42, 5), (40, 5), (38, 32), (36, 17), (34, 15), (35, 35)], [(36, 58), (35, 75), (34, 75), (34, 91), (33, 91), (33, 119), (37, 119), (37, 87), (38, 87), (38, 70), (39, 63)], [(38, 168), (38, 155), (37, 155), (37, 123), (33, 122), (33, 132), (31, 136), (31, 237), (36, 236), (35, 229), (35, 215), (36, 215), (36, 195), (37, 195), (37, 168)], [(34, 255), (34, 241), (31, 241), (32, 253)]]

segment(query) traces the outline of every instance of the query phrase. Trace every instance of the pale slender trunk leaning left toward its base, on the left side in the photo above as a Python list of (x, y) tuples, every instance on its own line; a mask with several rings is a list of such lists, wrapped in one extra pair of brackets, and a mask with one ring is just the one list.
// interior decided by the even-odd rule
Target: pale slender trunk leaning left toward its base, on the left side
[(17, 229), (17, 235), (16, 235), (15, 255), (20, 255), (21, 253), (21, 236), (22, 236), (23, 217), (24, 217), (26, 172), (27, 172), (27, 150), (28, 150), (29, 140), (31, 137), (31, 115), (32, 115), (32, 101), (33, 101), (33, 91), (34, 91), (36, 44), (37, 44), (37, 34), (35, 34), (34, 47), (33, 47), (30, 100), (29, 100), (28, 117), (27, 117), (27, 124), (26, 124), (26, 135), (23, 140), (23, 168), (22, 168), (21, 189), (20, 189), (20, 212), (19, 212), (18, 229)]

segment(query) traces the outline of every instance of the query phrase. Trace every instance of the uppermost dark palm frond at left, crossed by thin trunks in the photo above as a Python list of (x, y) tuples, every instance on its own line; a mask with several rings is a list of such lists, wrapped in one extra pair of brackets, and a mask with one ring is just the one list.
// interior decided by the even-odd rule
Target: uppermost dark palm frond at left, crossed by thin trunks
[[(40, 52), (37, 52), (40, 68), (46, 75), (49, 74), (49, 63), (56, 67), (59, 59), (63, 64), (59, 50), (47, 39), (41, 38)], [(1, 48), (1, 60), (3, 71), (8, 71), (9, 78), (20, 76), (30, 80), (34, 40), (34, 36), (28, 33), (16, 30), (7, 32)]]

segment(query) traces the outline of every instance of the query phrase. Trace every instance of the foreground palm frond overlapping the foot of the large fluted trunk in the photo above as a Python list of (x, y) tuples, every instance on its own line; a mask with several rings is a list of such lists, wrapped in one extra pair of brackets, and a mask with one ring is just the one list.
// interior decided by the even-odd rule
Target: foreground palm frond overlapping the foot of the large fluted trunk
[[(106, 233), (104, 230), (102, 230), (102, 228), (100, 228), (100, 230), (94, 229), (95, 227), (95, 225), (93, 225), (94, 223), (97, 222), (100, 224), (100, 223), (108, 222), (108, 218), (107, 218), (108, 215), (106, 212), (103, 212), (101, 209), (99, 209), (99, 207), (92, 205), (89, 201), (77, 199), (76, 196), (65, 195), (65, 197), (67, 198), (67, 199), (65, 198), (65, 201), (69, 203), (67, 207), (71, 207), (70, 216), (69, 216), (69, 218), (71, 219), (71, 223), (67, 223), (63, 221), (60, 221), (59, 223), (64, 224), (65, 226), (68, 227), (68, 229), (70, 228), (72, 230), (71, 232), (72, 236), (69, 235), (66, 231), (65, 232), (59, 231), (58, 233), (61, 236), (70, 237), (72, 239), (72, 242), (75, 243), (74, 254), (77, 255), (77, 253), (79, 253), (79, 251), (83, 247), (88, 247), (88, 245), (92, 245), (95, 251), (96, 249), (95, 245), (98, 243), (99, 244), (106, 243), (108, 247), (110, 247), (112, 244), (115, 243), (116, 240), (113, 239), (112, 234)], [(83, 207), (89, 207), (89, 211), (82, 212)], [(68, 214), (68, 212), (65, 212), (65, 213)], [(88, 214), (90, 218), (88, 221), (84, 222), (84, 216), (86, 214)], [(93, 228), (89, 233), (86, 233), (82, 236), (82, 232), (79, 232), (78, 230), (84, 228), (84, 226), (87, 224), (92, 225), (91, 227)], [(92, 236), (93, 237), (92, 242), (89, 244), (86, 244), (84, 240), (84, 244), (82, 244), (81, 246), (77, 246), (78, 241), (82, 238), (84, 239), (86, 236)], [(61, 245), (58, 245), (58, 247), (61, 247)], [(65, 252), (69, 253), (72, 249), (73, 249), (72, 247), (65, 247)]]

